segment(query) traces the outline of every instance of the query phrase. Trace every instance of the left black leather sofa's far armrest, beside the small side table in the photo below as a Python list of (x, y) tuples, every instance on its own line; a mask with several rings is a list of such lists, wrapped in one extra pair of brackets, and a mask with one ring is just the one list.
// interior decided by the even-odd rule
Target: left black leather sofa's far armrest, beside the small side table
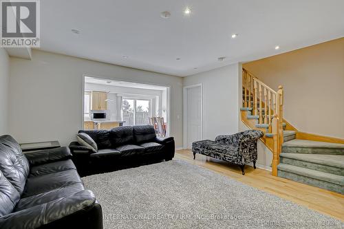
[(26, 158), (31, 166), (39, 164), (46, 164), (60, 160), (67, 160), (72, 157), (67, 147), (59, 147), (55, 149), (45, 149), (43, 151), (36, 151), (32, 153), (25, 153)]

